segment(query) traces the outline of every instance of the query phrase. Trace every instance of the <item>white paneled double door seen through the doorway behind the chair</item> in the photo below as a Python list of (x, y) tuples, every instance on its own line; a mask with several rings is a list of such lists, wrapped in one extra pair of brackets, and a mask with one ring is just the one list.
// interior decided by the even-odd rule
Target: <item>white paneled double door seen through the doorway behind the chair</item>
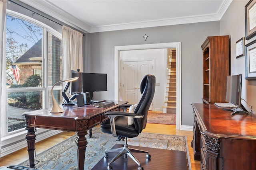
[(152, 74), (153, 61), (122, 61), (122, 65), (121, 98), (128, 104), (137, 104), (141, 97), (140, 81), (146, 74)]

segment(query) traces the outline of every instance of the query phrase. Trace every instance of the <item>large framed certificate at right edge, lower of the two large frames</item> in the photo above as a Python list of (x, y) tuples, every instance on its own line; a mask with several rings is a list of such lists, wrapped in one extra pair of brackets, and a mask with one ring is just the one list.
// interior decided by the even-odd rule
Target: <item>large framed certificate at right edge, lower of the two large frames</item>
[(256, 40), (245, 45), (245, 79), (256, 80)]

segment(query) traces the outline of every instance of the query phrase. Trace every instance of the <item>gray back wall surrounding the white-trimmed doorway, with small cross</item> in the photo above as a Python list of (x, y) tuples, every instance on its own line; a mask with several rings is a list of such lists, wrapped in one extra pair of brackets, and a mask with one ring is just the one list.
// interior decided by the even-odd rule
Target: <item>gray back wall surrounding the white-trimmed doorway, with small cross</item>
[[(145, 33), (149, 36), (147, 41), (142, 38)], [(202, 103), (201, 45), (207, 36), (216, 35), (220, 35), (220, 21), (89, 33), (86, 34), (84, 71), (107, 73), (108, 91), (100, 92), (100, 95), (114, 100), (115, 46), (181, 42), (181, 124), (192, 126), (193, 114), (190, 104)]]

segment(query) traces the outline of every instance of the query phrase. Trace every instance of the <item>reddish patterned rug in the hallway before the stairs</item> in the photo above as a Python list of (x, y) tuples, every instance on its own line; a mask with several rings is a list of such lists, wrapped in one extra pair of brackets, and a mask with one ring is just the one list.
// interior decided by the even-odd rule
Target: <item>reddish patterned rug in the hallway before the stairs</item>
[(174, 113), (161, 113), (161, 112), (148, 112), (147, 123), (176, 125), (176, 114)]

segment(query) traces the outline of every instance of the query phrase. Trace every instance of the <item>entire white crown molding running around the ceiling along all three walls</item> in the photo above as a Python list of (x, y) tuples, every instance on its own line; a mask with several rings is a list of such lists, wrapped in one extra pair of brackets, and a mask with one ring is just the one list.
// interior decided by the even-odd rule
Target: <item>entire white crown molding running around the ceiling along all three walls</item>
[(228, 7), (232, 2), (232, 0), (222, 0), (222, 4), (220, 5), (218, 12), (214, 14), (188, 16), (188, 17), (181, 17), (181, 18), (167, 18), (162, 20), (148, 20), (148, 21), (142, 21), (142, 22), (122, 23), (122, 24), (114, 24), (114, 25), (100, 25), (96, 27), (90, 27), (89, 25), (75, 18), (71, 14), (64, 12), (58, 6), (52, 4), (48, 0), (20, 0), (20, 1), (84, 33), (96, 33), (96, 32), (104, 32), (104, 31), (117, 31), (117, 30), (124, 30), (124, 29), (138, 29), (138, 28), (146, 28), (146, 27), (178, 25), (178, 24), (186, 24), (186, 23), (220, 21), (222, 16), (225, 14), (226, 10), (228, 9)]

